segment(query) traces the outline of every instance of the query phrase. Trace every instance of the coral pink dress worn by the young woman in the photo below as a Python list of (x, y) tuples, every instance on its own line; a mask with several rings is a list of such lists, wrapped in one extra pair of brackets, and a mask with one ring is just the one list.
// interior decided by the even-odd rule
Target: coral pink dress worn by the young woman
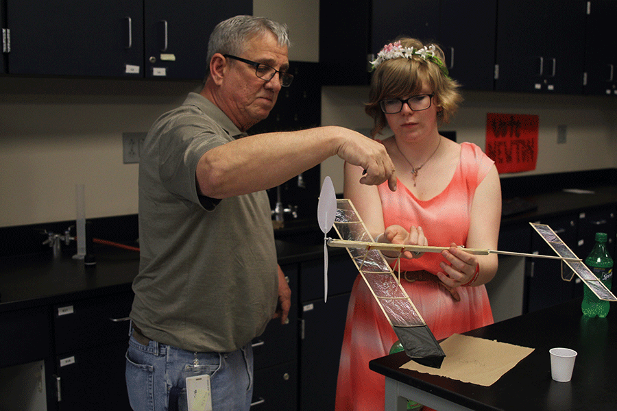
[[(448, 187), (433, 199), (420, 201), (398, 182), (391, 192), (379, 186), (385, 226), (420, 225), (428, 245), (465, 245), (470, 210), (477, 186), (486, 177), (493, 161), (468, 142), (461, 144), (461, 160)], [(401, 271), (440, 271), (440, 253), (400, 260)], [(461, 301), (436, 282), (407, 282), (401, 279), (411, 301), (437, 340), (493, 323), (485, 286), (457, 288)], [(347, 312), (347, 323), (339, 363), (337, 411), (376, 411), (384, 408), (384, 377), (368, 367), (370, 360), (387, 356), (398, 340), (385, 315), (360, 275), (356, 277)], [(412, 398), (413, 400), (413, 398)]]

